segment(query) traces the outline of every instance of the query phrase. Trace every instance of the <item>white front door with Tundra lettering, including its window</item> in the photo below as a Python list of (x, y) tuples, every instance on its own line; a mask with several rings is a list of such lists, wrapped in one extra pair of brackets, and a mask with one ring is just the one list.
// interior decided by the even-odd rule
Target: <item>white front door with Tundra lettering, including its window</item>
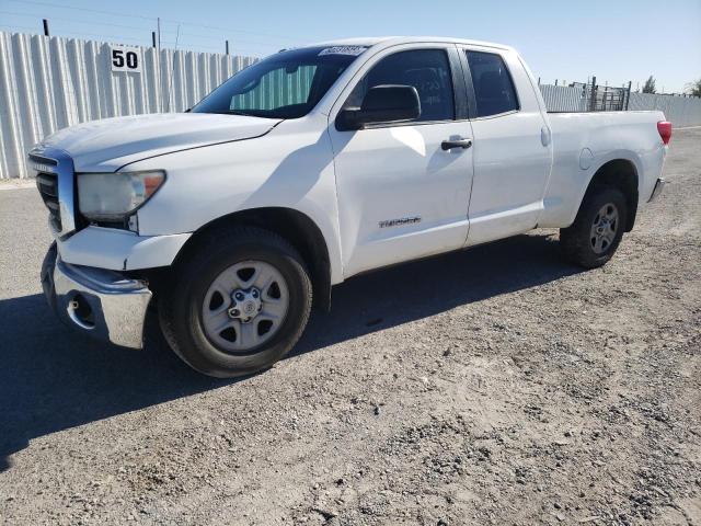
[(457, 53), (455, 46), (452, 52), (414, 45), (378, 54), (336, 108), (359, 106), (376, 85), (413, 85), (422, 107), (415, 121), (340, 132), (333, 121), (337, 111), (332, 112), (346, 277), (464, 244), (472, 149), (444, 149), (443, 142), (471, 139), (472, 132), (456, 114), (453, 81), (462, 73), (451, 68), (449, 53)]

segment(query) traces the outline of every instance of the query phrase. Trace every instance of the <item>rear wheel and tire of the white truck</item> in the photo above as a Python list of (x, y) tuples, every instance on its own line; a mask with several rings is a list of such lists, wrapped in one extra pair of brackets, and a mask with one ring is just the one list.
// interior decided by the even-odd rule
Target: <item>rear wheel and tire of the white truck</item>
[[(613, 215), (614, 221), (611, 220)], [(585, 268), (605, 265), (621, 242), (627, 217), (628, 205), (620, 190), (593, 187), (586, 193), (572, 226), (560, 229), (560, 244), (565, 258)]]

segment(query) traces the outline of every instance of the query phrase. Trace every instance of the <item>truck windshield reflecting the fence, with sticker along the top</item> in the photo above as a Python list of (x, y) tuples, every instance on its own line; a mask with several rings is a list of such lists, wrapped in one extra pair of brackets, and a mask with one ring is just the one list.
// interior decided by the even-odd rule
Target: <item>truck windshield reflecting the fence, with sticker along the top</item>
[(239, 71), (192, 111), (302, 117), (366, 49), (365, 46), (333, 46), (280, 52)]

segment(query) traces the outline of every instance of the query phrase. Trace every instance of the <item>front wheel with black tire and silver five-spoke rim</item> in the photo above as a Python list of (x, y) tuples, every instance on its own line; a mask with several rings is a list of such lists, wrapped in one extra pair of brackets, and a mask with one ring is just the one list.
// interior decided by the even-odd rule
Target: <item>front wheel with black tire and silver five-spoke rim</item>
[[(276, 233), (234, 227), (205, 236), (196, 250), (175, 265), (172, 283), (161, 293), (161, 329), (175, 354), (195, 370), (218, 378), (251, 375), (284, 357), (299, 340), (311, 310), (311, 281), (299, 253)], [(250, 268), (254, 272), (244, 274)], [(273, 276), (267, 289), (256, 285), (255, 276), (263, 274)], [(246, 279), (253, 285), (244, 288)], [(225, 283), (237, 285), (227, 286), (225, 293)], [(254, 289), (260, 290), (258, 313), (242, 318), (244, 310), (255, 310)], [(237, 296), (244, 301), (238, 302)], [(275, 321), (264, 319), (269, 306), (279, 313), (285, 302), (284, 315), (274, 317)], [(232, 311), (238, 318), (231, 318)], [(231, 327), (223, 330), (211, 321), (223, 320), (226, 324), (227, 317)], [(246, 319), (252, 321), (244, 322)], [(260, 335), (268, 322), (271, 329)], [(256, 338), (262, 343), (245, 346)], [(241, 347), (233, 348), (235, 345)]]

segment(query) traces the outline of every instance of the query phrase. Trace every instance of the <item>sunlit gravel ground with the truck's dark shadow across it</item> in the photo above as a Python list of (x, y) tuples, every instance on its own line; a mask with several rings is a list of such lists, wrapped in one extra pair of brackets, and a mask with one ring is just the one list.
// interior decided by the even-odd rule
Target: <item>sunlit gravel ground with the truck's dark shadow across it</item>
[(71, 335), (0, 192), (8, 524), (701, 525), (701, 129), (617, 256), (537, 231), (350, 279), (238, 381)]

